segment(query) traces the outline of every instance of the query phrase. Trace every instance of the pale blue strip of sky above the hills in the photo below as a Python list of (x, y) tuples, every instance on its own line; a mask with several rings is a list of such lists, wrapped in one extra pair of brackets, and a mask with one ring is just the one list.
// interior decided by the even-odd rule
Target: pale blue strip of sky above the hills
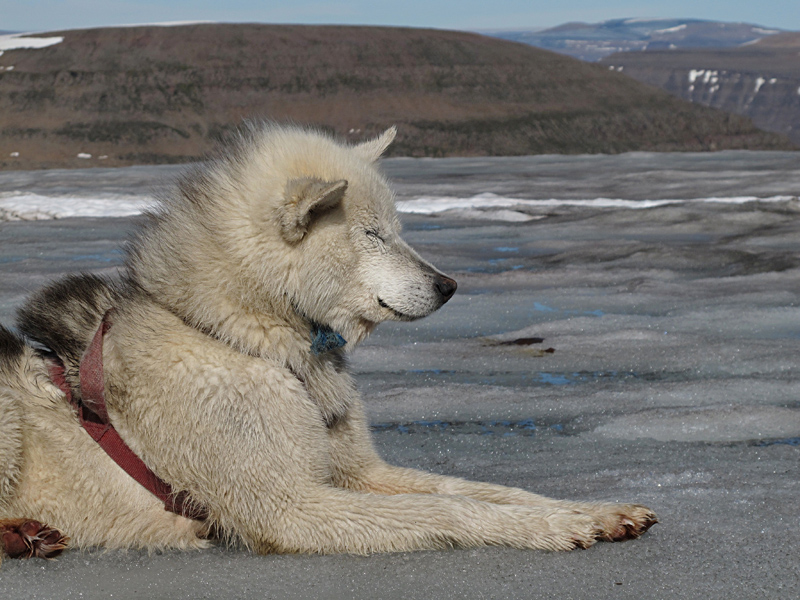
[(172, 21), (540, 29), (569, 21), (696, 18), (800, 30), (798, 0), (0, 0), (0, 31)]

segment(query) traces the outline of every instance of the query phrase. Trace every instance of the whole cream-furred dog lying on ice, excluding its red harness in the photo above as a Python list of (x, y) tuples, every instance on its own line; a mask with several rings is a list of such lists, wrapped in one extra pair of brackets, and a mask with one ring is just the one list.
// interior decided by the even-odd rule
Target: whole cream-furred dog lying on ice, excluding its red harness
[[(551, 500), (378, 457), (346, 351), (455, 291), (400, 238), (375, 165), (393, 138), (351, 147), (250, 126), (162, 200), (120, 282), (68, 277), (20, 311), (19, 329), (59, 356), (80, 398), (81, 356), (113, 309), (111, 421), (205, 522), (165, 511), (112, 462), (51, 382), (46, 353), (0, 328), (0, 527), (47, 523), (77, 547), (201, 548), (216, 535), (257, 552), (363, 554), (566, 550), (654, 523), (643, 506)], [(320, 328), (345, 348), (312, 352)]]

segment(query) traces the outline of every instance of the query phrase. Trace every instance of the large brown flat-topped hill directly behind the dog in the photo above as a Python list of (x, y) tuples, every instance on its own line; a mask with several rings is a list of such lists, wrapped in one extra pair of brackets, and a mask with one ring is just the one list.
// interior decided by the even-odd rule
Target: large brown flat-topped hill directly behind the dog
[(352, 141), (397, 124), (391, 152), (407, 156), (792, 147), (607, 66), (471, 33), (194, 24), (40, 36), (50, 45), (0, 56), (0, 168), (193, 160), (254, 117)]

